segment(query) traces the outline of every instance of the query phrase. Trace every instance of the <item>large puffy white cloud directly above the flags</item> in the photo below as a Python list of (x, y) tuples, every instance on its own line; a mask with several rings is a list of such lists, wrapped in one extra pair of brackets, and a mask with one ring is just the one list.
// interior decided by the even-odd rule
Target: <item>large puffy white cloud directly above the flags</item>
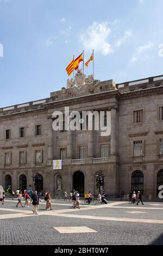
[(92, 51), (94, 49), (96, 52), (107, 55), (112, 52), (108, 42), (110, 33), (108, 22), (97, 23), (94, 21), (83, 34), (80, 34), (79, 40), (85, 50)]

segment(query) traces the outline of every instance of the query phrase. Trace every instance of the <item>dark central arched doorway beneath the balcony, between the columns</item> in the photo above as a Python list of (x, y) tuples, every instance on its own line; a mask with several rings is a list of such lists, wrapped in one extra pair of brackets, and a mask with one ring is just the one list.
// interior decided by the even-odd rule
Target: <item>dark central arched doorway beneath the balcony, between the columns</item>
[(73, 188), (80, 193), (80, 196), (84, 194), (84, 180), (84, 173), (80, 172), (80, 170), (73, 174)]

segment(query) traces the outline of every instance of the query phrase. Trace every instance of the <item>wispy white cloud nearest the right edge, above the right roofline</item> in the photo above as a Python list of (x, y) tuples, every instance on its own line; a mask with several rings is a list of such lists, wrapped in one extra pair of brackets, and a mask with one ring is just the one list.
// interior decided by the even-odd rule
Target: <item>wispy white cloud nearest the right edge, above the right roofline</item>
[(131, 58), (131, 62), (136, 62), (139, 59), (146, 60), (149, 57), (146, 52), (148, 50), (151, 50), (151, 48), (153, 48), (153, 46), (154, 46), (154, 43), (151, 41), (148, 41), (147, 44), (145, 44), (145, 45), (139, 46), (136, 49), (136, 53)]

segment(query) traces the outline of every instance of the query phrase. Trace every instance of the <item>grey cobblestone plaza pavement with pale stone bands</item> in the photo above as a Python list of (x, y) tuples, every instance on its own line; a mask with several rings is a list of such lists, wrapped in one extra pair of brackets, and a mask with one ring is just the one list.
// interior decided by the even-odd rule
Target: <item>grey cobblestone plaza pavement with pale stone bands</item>
[[(81, 205), (54, 200), (53, 210), (40, 204), (39, 215), (16, 208), (17, 200), (0, 202), (0, 245), (163, 245), (163, 202)], [(24, 205), (24, 203), (23, 203)], [(87, 227), (95, 233), (59, 233), (56, 227)], [(86, 231), (85, 231), (86, 232)]]

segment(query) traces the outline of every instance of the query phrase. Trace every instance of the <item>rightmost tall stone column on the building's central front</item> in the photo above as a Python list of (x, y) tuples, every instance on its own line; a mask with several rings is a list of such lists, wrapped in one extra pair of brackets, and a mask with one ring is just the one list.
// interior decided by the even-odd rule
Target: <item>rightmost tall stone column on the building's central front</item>
[(110, 153), (117, 154), (117, 109), (111, 108), (111, 138), (110, 138)]

